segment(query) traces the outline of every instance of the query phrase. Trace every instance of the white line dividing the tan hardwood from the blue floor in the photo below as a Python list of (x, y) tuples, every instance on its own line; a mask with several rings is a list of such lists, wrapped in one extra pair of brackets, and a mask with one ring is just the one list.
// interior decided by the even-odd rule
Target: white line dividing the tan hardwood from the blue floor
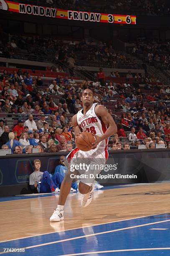
[[(94, 226), (99, 226), (99, 225), (110, 224), (110, 223), (116, 223), (116, 222), (121, 222), (121, 221), (127, 221), (127, 220), (136, 220), (136, 219), (140, 219), (140, 218), (147, 218), (147, 217), (157, 216), (157, 215), (163, 215), (163, 214), (165, 214), (165, 213), (158, 213), (158, 214), (155, 214), (155, 215), (147, 215), (147, 216), (135, 217), (135, 218), (124, 219), (124, 220), (115, 220), (115, 221), (110, 221), (110, 222), (105, 222), (105, 223), (100, 223), (100, 224), (89, 225), (89, 226), (86, 226), (86, 228), (88, 228), (88, 227), (94, 227)], [(82, 228), (82, 227), (79, 227), (79, 228)], [(59, 230), (59, 231), (55, 231), (55, 232), (43, 233), (43, 234), (41, 234), (41, 236), (43, 236), (43, 235), (49, 235), (49, 234), (54, 234), (54, 233), (59, 233), (59, 232), (64, 232), (64, 231), (69, 231), (69, 230), (75, 230), (75, 229), (79, 229), (79, 228), (69, 228), (69, 229), (66, 229), (66, 230)], [(35, 236), (39, 236), (39, 235), (35, 235)], [(25, 236), (25, 237), (10, 239), (10, 240), (4, 240), (4, 241), (0, 241), (0, 243), (10, 242), (10, 241), (15, 241), (15, 240), (20, 240), (20, 239), (30, 238), (30, 237), (34, 237), (34, 236)]]

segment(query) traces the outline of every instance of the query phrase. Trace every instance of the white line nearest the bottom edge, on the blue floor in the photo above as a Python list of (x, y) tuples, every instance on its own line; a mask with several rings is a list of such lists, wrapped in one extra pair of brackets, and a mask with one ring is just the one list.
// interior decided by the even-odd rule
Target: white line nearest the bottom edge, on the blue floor
[(122, 249), (122, 250), (109, 250), (109, 251), (92, 251), (92, 252), (86, 252), (86, 253), (63, 254), (63, 255), (60, 255), (60, 256), (76, 256), (76, 255), (86, 255), (86, 254), (94, 254), (94, 253), (111, 253), (111, 252), (121, 252), (121, 251), (156, 251), (156, 250), (170, 250), (170, 247)]

